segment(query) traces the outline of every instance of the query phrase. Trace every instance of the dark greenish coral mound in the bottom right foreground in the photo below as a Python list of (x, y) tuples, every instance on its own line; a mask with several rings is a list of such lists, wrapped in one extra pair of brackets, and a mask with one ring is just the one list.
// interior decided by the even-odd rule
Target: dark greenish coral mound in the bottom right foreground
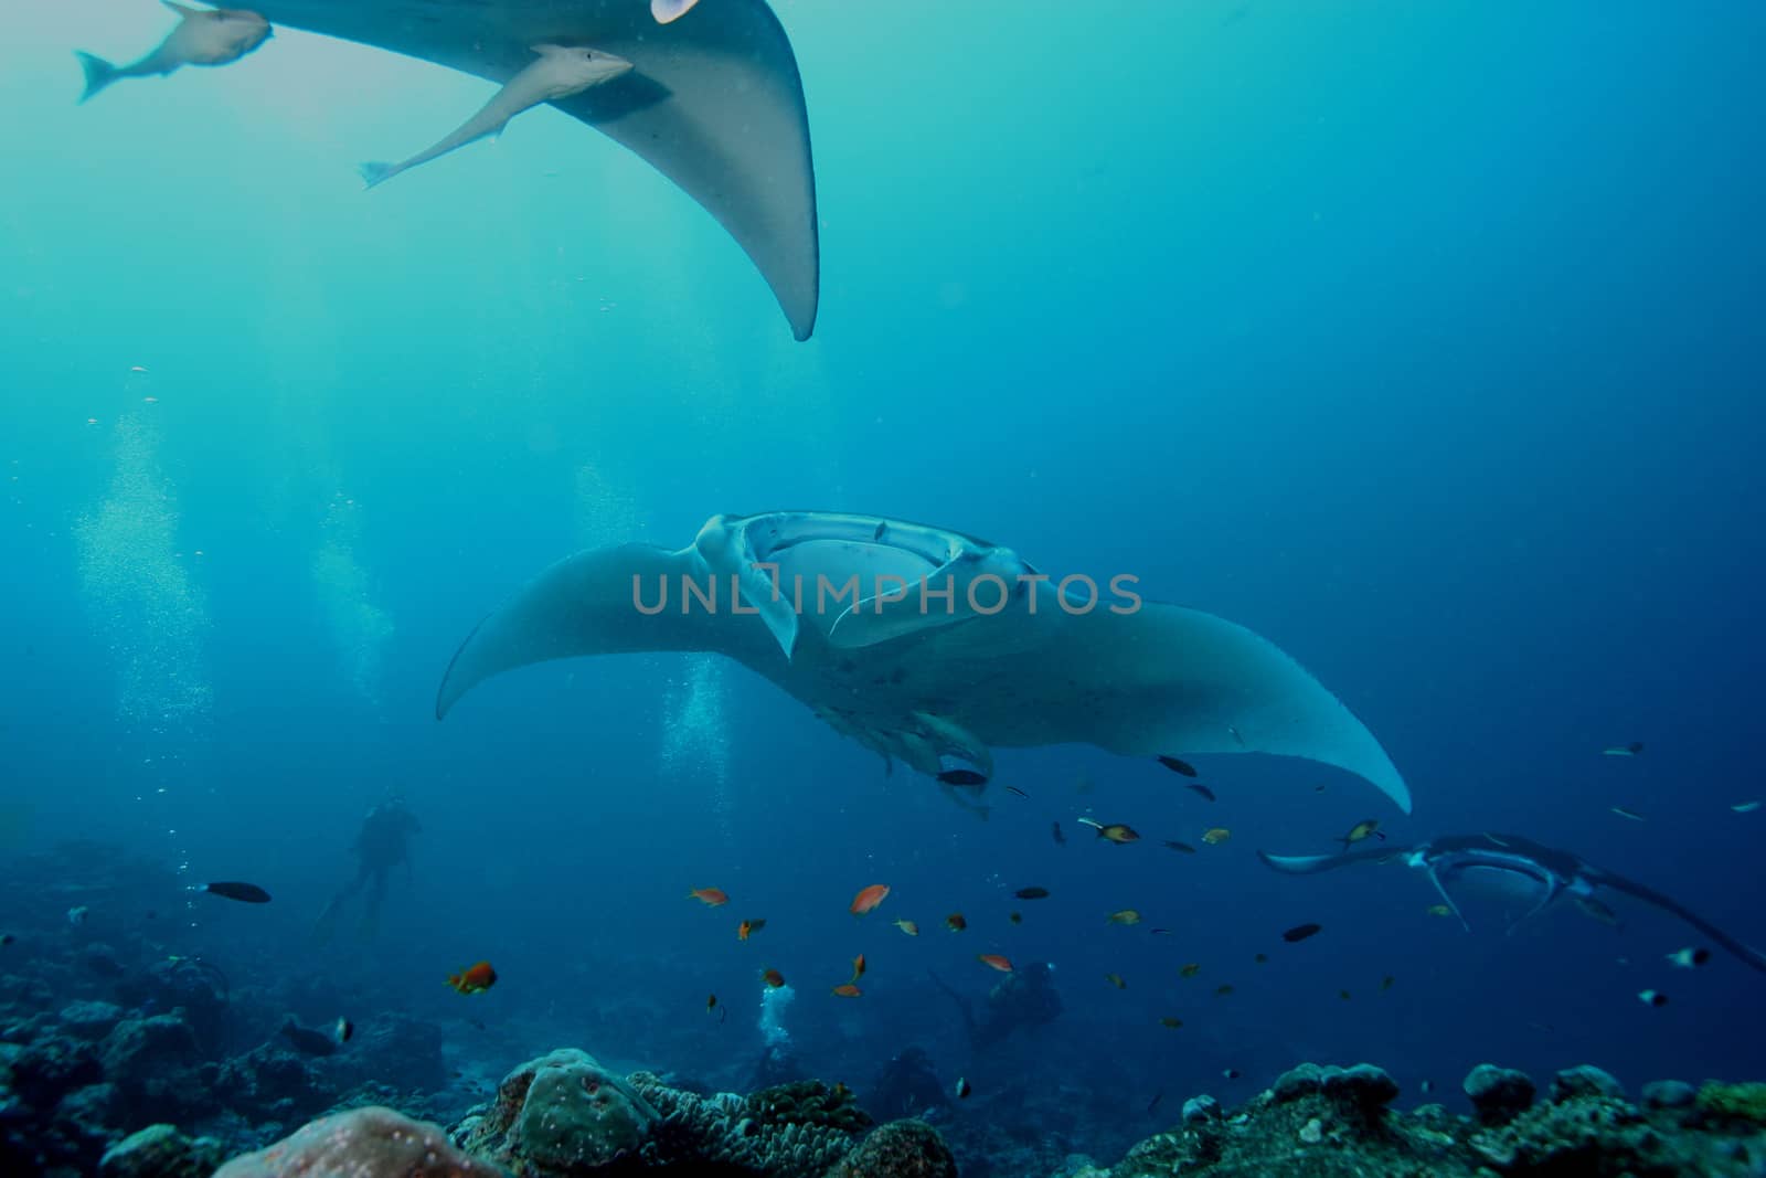
[[(1690, 1086), (1658, 1081), (1644, 1107), (1595, 1067), (1559, 1072), (1535, 1104), (1521, 1072), (1480, 1065), (1466, 1077), (1475, 1116), (1438, 1104), (1390, 1107), (1397, 1084), (1379, 1069), (1303, 1063), (1231, 1116), (1185, 1116), (1114, 1167), (1067, 1167), (1063, 1178), (1303, 1174), (1307, 1178), (1589, 1174), (1727, 1178), (1766, 1169), (1766, 1127), (1754, 1120), (1762, 1084), (1706, 1084), (1725, 1114), (1692, 1109)], [(1759, 1090), (1759, 1091), (1754, 1091)], [(1194, 1104), (1194, 1102), (1192, 1102)]]

